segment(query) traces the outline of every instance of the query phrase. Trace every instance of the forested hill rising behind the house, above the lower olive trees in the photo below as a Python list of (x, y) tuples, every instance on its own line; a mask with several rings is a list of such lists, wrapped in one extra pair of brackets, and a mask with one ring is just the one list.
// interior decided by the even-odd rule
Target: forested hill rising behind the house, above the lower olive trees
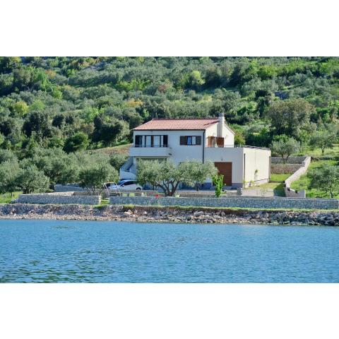
[(126, 143), (153, 117), (220, 112), (238, 143), (307, 143), (336, 125), (338, 108), (338, 58), (0, 58), (0, 148), (20, 157)]

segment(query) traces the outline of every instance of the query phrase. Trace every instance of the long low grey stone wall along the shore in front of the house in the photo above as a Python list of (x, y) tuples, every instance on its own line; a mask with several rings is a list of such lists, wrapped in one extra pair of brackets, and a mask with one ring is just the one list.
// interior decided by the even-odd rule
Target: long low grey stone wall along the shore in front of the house
[(113, 205), (135, 206), (195, 206), (223, 208), (299, 208), (299, 209), (338, 209), (337, 199), (303, 198), (263, 198), (263, 197), (223, 197), (223, 198), (155, 198), (142, 196), (111, 196)]

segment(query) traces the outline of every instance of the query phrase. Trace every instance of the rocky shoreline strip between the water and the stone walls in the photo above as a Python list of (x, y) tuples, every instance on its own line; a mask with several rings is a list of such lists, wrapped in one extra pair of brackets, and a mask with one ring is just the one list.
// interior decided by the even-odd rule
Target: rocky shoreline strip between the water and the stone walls
[(153, 206), (0, 205), (0, 219), (115, 220), (220, 224), (339, 226), (339, 212), (160, 208)]

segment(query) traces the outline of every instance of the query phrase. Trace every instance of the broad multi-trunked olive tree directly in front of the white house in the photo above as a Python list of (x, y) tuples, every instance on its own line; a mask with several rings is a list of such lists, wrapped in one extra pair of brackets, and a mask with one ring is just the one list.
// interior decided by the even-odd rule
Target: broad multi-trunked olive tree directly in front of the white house
[(211, 162), (189, 160), (176, 166), (171, 160), (139, 160), (136, 179), (141, 185), (151, 184), (162, 189), (165, 196), (173, 196), (179, 184), (200, 184), (216, 172)]

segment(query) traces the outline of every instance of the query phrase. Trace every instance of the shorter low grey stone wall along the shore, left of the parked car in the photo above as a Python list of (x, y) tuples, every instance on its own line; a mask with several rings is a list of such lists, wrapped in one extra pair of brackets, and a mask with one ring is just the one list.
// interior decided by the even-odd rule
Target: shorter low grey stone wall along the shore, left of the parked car
[(78, 203), (81, 205), (99, 205), (101, 203), (101, 196), (78, 196), (74, 195), (74, 192), (20, 194), (18, 197), (18, 203)]

